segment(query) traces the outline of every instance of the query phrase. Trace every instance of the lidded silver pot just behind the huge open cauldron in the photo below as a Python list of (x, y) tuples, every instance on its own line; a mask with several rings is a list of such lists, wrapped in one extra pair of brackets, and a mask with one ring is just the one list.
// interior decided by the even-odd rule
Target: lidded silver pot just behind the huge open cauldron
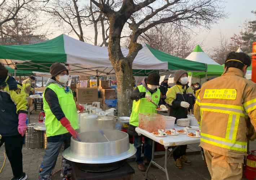
[(115, 130), (116, 116), (100, 116), (96, 118), (96, 124), (102, 130)]

